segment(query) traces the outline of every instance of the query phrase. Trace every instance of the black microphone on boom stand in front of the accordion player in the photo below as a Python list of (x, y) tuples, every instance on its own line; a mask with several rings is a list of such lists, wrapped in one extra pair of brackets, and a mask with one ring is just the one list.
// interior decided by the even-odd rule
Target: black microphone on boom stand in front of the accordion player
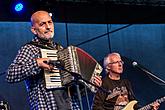
[[(104, 88), (102, 88), (102, 87), (100, 87), (100, 86), (97, 86), (97, 85), (91, 83), (90, 81), (88, 81), (88, 80), (82, 78), (82, 76), (81, 76), (80, 74), (75, 73), (75, 72), (71, 72), (71, 71), (65, 69), (65, 68), (64, 68), (62, 65), (60, 65), (60, 64), (56, 64), (55, 66), (56, 66), (56, 68), (59, 68), (59, 69), (62, 70), (62, 71), (65, 71), (65, 72), (70, 73), (70, 74), (74, 77), (74, 81), (72, 81), (71, 84), (72, 84), (72, 83), (76, 84), (76, 90), (77, 90), (78, 100), (79, 100), (79, 103), (80, 103), (80, 110), (83, 110), (82, 98), (81, 98), (81, 93), (80, 93), (79, 83), (78, 83), (78, 82), (80, 82), (80, 80), (84, 81), (84, 82), (87, 83), (87, 84), (90, 84), (90, 85), (96, 87), (96, 88), (99, 89), (99, 90), (102, 90), (103, 92), (106, 92), (107, 94), (110, 94), (110, 93), (111, 93), (111, 92), (108, 92), (107, 90), (105, 90)], [(82, 83), (82, 82), (81, 82), (81, 83)], [(84, 84), (84, 85), (85, 85), (85, 84)], [(86, 88), (85, 88), (85, 89), (86, 89)], [(88, 108), (90, 108), (90, 107), (89, 107), (89, 104), (88, 104)]]

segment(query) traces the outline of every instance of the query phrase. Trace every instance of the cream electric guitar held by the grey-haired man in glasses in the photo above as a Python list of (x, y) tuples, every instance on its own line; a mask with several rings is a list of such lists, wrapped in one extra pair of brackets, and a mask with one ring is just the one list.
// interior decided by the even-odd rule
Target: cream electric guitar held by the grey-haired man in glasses
[[(165, 101), (165, 96), (162, 97), (162, 98), (160, 98), (160, 99), (157, 99), (157, 100), (154, 101), (154, 102), (162, 103), (162, 102), (164, 102), (164, 101)], [(129, 102), (122, 110), (134, 110), (133, 107), (134, 107), (134, 105), (135, 105), (137, 102), (138, 102), (138, 101), (136, 101), (136, 100), (133, 100), (133, 101)], [(150, 104), (148, 104), (148, 105), (146, 105), (146, 106), (144, 106), (144, 107), (142, 107), (142, 108), (140, 108), (140, 109), (138, 109), (138, 110), (149, 110), (149, 109), (152, 108), (152, 104), (153, 104), (154, 102), (152, 102), (152, 103), (150, 103)]]

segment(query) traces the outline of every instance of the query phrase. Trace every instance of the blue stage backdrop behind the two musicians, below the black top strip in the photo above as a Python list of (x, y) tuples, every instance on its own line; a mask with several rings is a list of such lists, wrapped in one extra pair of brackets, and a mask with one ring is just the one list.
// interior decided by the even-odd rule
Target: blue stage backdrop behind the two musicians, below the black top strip
[[(54, 40), (64, 47), (74, 45), (84, 49), (101, 65), (106, 54), (119, 52), (125, 61), (123, 77), (131, 80), (137, 99), (145, 105), (163, 97), (165, 85), (134, 68), (132, 62), (138, 62), (165, 80), (164, 36), (164, 24), (55, 23)], [(11, 110), (29, 110), (24, 82), (7, 83), (5, 72), (18, 49), (33, 38), (30, 23), (0, 22), (0, 38), (0, 96), (9, 103)], [(93, 94), (89, 94), (92, 104)], [(160, 110), (165, 110), (165, 103), (161, 104)]]

